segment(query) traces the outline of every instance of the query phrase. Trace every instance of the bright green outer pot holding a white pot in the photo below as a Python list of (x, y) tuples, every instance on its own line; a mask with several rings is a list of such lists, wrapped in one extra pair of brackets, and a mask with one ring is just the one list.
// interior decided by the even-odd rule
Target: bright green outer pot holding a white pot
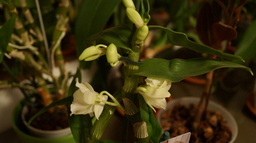
[(23, 124), (21, 119), (21, 111), (24, 103), (24, 100), (19, 102), (12, 112), (12, 126), (18, 135), (20, 143), (75, 143), (72, 134), (56, 138), (42, 138), (30, 135), (28, 128)]

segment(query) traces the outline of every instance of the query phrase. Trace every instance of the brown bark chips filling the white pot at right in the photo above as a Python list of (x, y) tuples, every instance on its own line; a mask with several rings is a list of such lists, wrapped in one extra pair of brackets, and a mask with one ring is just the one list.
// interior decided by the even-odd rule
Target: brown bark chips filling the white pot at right
[(161, 127), (170, 138), (191, 132), (189, 143), (228, 143), (232, 130), (219, 111), (207, 110), (197, 131), (192, 131), (197, 105), (180, 105), (166, 109), (161, 115)]

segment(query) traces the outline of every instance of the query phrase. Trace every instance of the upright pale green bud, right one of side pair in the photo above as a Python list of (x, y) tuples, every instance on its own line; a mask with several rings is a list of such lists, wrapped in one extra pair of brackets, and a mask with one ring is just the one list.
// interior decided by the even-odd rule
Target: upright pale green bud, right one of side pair
[(109, 45), (106, 52), (106, 57), (108, 63), (116, 63), (116, 61), (118, 60), (117, 48), (113, 43)]

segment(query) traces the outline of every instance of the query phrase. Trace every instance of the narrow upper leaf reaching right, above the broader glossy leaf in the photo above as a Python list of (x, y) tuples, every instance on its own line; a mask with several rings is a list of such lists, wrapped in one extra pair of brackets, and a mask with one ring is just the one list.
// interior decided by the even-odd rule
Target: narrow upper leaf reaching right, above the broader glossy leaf
[(228, 53), (223, 53), (218, 50), (215, 50), (211, 47), (208, 47), (206, 45), (195, 43), (188, 39), (188, 37), (184, 33), (175, 32), (171, 29), (161, 27), (161, 26), (148, 26), (149, 30), (153, 29), (162, 29), (167, 33), (167, 38), (169, 42), (173, 45), (186, 47), (188, 49), (192, 49), (193, 51), (199, 52), (199, 53), (210, 53), (212, 55), (216, 55), (219, 57), (223, 57), (226, 59), (234, 59), (234, 60), (242, 60), (244, 61), (240, 56), (237, 55), (230, 55)]

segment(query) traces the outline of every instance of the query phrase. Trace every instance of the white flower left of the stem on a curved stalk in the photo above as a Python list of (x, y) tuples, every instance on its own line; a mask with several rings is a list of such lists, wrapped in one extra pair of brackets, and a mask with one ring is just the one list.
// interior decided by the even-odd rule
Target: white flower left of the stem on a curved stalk
[(93, 113), (99, 119), (105, 103), (102, 101), (108, 100), (107, 95), (99, 95), (93, 90), (89, 83), (79, 83), (76, 78), (76, 87), (79, 89), (74, 93), (74, 100), (71, 104), (71, 114), (89, 114), (91, 117)]

